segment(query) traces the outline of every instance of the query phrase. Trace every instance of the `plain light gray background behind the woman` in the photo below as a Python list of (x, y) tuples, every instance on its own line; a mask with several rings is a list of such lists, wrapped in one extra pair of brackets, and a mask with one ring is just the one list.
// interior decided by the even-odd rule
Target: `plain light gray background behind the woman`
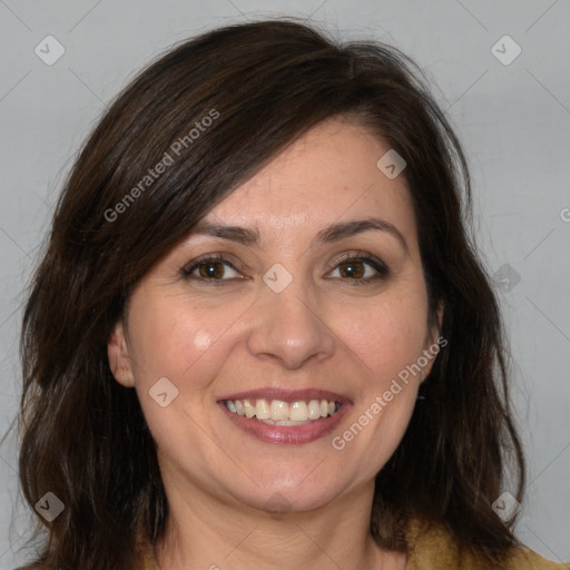
[[(569, 561), (570, 3), (564, 0), (0, 0), (1, 433), (20, 395), (22, 289), (61, 181), (106, 102), (171, 43), (279, 14), (312, 16), (344, 38), (393, 43), (436, 83), (470, 157), (484, 263), (493, 274), (509, 265), (497, 282), (530, 468), (517, 532), (543, 556)], [(35, 53), (48, 35), (66, 49), (52, 66)], [(491, 51), (504, 35), (522, 49), (510, 65)], [(511, 56), (503, 43), (502, 57)], [(18, 549), (30, 514), (18, 492), (17, 469), (12, 431), (0, 448), (1, 569), (26, 558)]]

